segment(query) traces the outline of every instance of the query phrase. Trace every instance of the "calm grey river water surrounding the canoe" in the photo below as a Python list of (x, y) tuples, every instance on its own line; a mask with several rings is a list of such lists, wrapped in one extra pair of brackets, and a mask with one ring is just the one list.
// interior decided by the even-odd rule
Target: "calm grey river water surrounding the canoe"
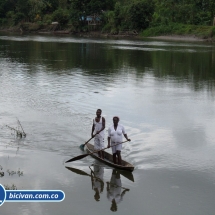
[[(213, 44), (1, 33), (0, 66), (0, 183), (65, 192), (1, 214), (214, 215)], [(90, 156), (65, 165), (84, 153), (98, 108), (106, 136), (120, 116), (133, 173)], [(26, 138), (7, 127), (18, 120)]]

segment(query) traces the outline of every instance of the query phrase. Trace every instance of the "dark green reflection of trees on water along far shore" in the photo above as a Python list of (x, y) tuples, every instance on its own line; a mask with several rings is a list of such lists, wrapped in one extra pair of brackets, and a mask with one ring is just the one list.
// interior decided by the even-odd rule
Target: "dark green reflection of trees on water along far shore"
[[(22, 64), (27, 73), (38, 70), (58, 75), (73, 75), (81, 71), (91, 81), (92, 77), (117, 77), (122, 72), (133, 73), (139, 79), (148, 71), (158, 78), (172, 78), (179, 83), (191, 83), (195, 90), (205, 84), (214, 89), (214, 47), (194, 43), (169, 43), (153, 41), (120, 41), (56, 37), (0, 37), (2, 59)], [(23, 48), (24, 47), (24, 48)], [(58, 50), (57, 52), (55, 50)], [(132, 56), (132, 57), (131, 57)], [(112, 82), (112, 78), (110, 82)], [(204, 83), (202, 83), (204, 81)]]

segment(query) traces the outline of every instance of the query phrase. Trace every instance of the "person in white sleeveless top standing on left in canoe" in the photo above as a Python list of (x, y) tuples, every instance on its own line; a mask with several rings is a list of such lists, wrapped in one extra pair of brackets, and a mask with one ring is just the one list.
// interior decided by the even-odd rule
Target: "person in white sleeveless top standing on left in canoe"
[[(101, 116), (102, 110), (96, 111), (96, 117), (93, 119), (92, 133), (91, 136), (94, 138), (94, 149), (104, 149), (104, 129), (105, 129), (105, 118)], [(104, 159), (104, 151), (98, 152), (100, 158)]]

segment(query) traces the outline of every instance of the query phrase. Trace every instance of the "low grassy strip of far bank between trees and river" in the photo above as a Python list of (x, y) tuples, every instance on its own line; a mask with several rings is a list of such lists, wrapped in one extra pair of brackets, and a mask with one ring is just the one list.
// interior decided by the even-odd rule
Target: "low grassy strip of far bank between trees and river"
[[(89, 34), (92, 36), (109, 35), (111, 32), (102, 33), (101, 30), (90, 31), (86, 28), (85, 31), (74, 30), (72, 25), (48, 25), (42, 23), (22, 23), (16, 26), (0, 26), (0, 31), (11, 31), (11, 32), (27, 32), (27, 33), (67, 33), (67, 34)], [(119, 32), (112, 36), (129, 36), (129, 37), (156, 37), (156, 36), (185, 36), (195, 37), (199, 39), (205, 39), (208, 41), (215, 41), (215, 26), (197, 26), (197, 25), (184, 25), (179, 23), (161, 24), (159, 26), (152, 26), (146, 30), (136, 34), (125, 34), (125, 32)]]

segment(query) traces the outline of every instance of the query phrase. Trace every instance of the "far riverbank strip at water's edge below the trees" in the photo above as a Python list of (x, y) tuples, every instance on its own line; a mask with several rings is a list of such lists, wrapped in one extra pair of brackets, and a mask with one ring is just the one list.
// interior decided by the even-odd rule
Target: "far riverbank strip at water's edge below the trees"
[[(81, 37), (106, 37), (106, 38), (151, 38), (151, 39), (159, 39), (159, 40), (173, 40), (173, 41), (196, 41), (196, 42), (215, 42), (214, 37), (214, 28), (211, 26), (201, 26), (201, 30), (199, 27), (193, 28), (192, 30), (189, 27), (189, 32), (187, 33), (187, 29), (185, 30), (184, 25), (181, 29), (184, 30), (179, 31), (179, 26), (174, 26), (175, 30), (166, 29), (166, 26), (162, 28), (153, 27), (144, 30), (143, 32), (137, 33), (136, 31), (120, 31), (118, 34), (111, 33), (103, 33), (100, 30), (94, 31), (86, 31), (86, 32), (78, 32), (74, 31), (71, 26), (60, 26), (58, 24), (55, 25), (40, 25), (37, 23), (23, 23), (13, 27), (1, 27), (1, 32), (17, 32), (20, 34), (24, 33), (36, 33), (36, 34), (59, 34), (59, 35), (77, 35)], [(162, 28), (162, 30), (161, 30)], [(165, 30), (164, 30), (165, 29)], [(195, 29), (195, 30), (194, 30)], [(165, 31), (165, 33), (164, 33)], [(177, 33), (178, 32), (178, 33)]]

